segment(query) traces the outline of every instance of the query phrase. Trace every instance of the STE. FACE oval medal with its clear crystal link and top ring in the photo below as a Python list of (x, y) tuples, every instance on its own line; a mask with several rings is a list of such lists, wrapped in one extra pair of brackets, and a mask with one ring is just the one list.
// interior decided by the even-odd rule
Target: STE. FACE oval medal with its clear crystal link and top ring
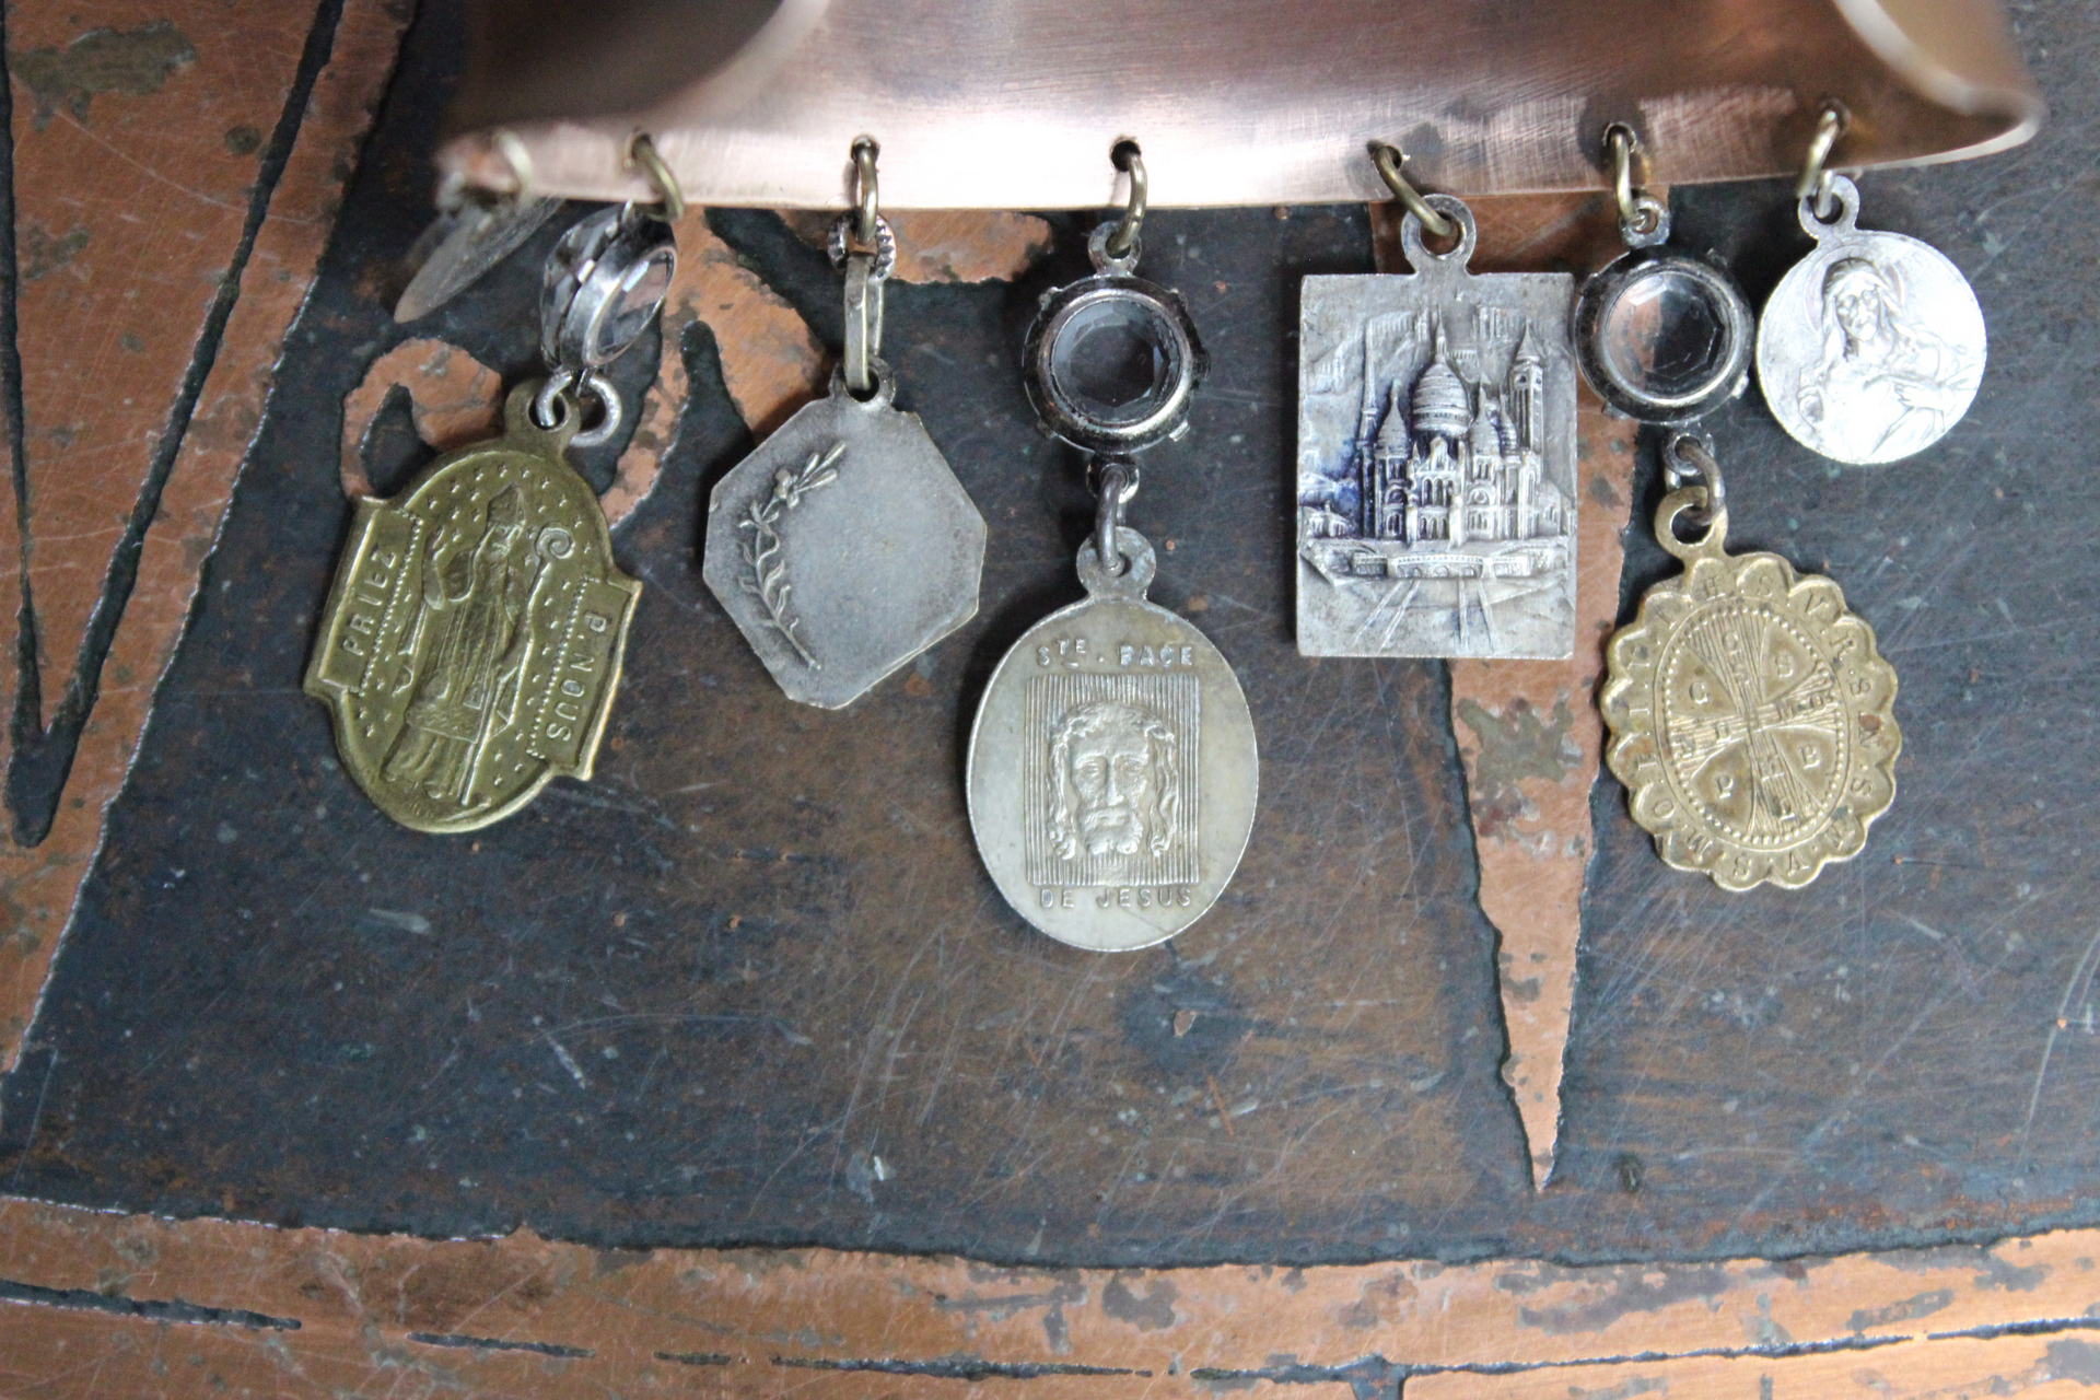
[[(1132, 210), (1094, 231), (1096, 273), (1044, 296), (1027, 388), (1058, 439), (1094, 453), (1086, 600), (1029, 628), (985, 686), (970, 733), (970, 829), (1000, 894), (1079, 949), (1163, 942), (1224, 892), (1254, 827), (1254, 716), (1231, 663), (1147, 600), (1151, 542), (1124, 525), (1132, 453), (1180, 437), (1203, 346), (1180, 298), (1134, 275)], [(1132, 374), (1144, 367), (1142, 374)]]

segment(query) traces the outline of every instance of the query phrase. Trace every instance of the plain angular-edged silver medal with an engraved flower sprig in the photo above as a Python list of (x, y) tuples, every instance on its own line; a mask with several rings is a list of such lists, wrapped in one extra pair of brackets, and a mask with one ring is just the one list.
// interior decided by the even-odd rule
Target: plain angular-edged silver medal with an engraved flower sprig
[(892, 390), (834, 376), (708, 497), (701, 575), (804, 705), (850, 705), (976, 615), (985, 516)]

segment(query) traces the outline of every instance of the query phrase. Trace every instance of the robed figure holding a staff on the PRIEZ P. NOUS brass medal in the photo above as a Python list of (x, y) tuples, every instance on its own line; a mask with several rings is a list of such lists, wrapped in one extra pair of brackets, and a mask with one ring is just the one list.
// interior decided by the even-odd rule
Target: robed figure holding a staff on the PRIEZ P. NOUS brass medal
[[(470, 550), (439, 548), (422, 560), (422, 600), (403, 651), (418, 657), (414, 699), (386, 754), (386, 781), (437, 802), (470, 804), (489, 737), (517, 722), (533, 586), (544, 560), (525, 542), (525, 502), (504, 487), (489, 502)], [(424, 636), (433, 632), (435, 636)]]

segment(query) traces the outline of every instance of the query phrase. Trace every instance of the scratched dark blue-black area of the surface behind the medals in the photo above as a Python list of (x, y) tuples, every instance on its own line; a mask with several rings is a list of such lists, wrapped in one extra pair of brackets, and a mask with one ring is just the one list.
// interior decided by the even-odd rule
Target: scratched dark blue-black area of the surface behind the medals
[[(472, 837), (357, 796), (298, 674), (346, 518), (340, 401), (403, 334), (388, 258), (424, 212), (456, 46), (424, 23), (6, 1085), (10, 1190), (1088, 1264), (1720, 1257), (2094, 1222), (2094, 17), (2018, 13), (2058, 115), (2041, 141), (1863, 191), (1865, 222), (1976, 279), (1993, 363), (1968, 422), (1844, 470), (1754, 401), (1716, 424), (1741, 544), (1827, 569), (1882, 632), (1903, 787), (1858, 863), (1749, 896), (1663, 869), (1598, 787), (1544, 1196), (1495, 1075), (1443, 670), (1310, 663), (1289, 636), (1296, 279), (1369, 269), (1361, 210), (1149, 225), (1147, 273), (1191, 296), (1216, 372), (1134, 523), (1172, 542), (1155, 594), (1239, 670), (1264, 758), (1247, 861), (1170, 947), (1033, 934), (962, 812), (991, 663), (1077, 596), (1088, 502), (1033, 432), (1016, 346), (1088, 220), (1054, 220), (1018, 285), (890, 292), (899, 378), (993, 537), (981, 617), (924, 667), (813, 714), (714, 607), (697, 512), (750, 439), (695, 334), (678, 445), (615, 533), (647, 592), (598, 779)], [(1787, 220), (1779, 187), (1678, 210), (1754, 296), (1804, 246)], [(836, 342), (821, 254), (771, 216), (714, 227)], [(527, 372), (554, 233), (437, 334)], [(414, 464), (380, 451), (374, 481)], [(1636, 531), (1630, 596), (1663, 567)]]

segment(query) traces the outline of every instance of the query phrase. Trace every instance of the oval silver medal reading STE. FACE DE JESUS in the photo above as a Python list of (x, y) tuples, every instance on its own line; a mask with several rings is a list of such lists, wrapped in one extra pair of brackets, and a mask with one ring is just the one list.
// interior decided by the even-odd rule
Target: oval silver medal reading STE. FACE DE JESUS
[(1147, 949), (1203, 917), (1254, 827), (1254, 716), (1233, 667), (1144, 600), (1157, 558), (1119, 529), (1111, 575), (1079, 548), (1086, 600), (1044, 617), (985, 686), (970, 827), (1000, 894), (1058, 942)]

